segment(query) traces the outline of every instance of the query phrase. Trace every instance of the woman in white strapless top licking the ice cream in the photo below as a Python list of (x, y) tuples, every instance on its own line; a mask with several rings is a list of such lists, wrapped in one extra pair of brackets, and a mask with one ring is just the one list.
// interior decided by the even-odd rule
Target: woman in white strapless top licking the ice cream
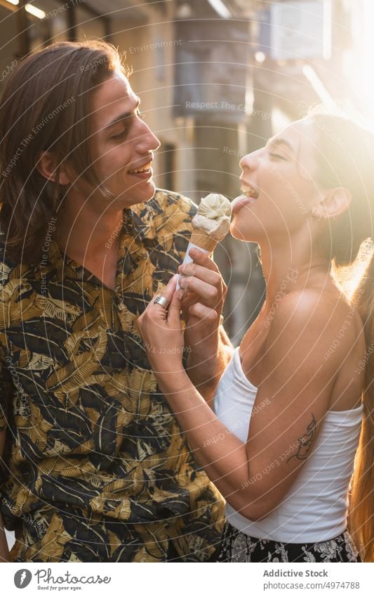
[[(363, 409), (367, 442), (374, 432), (373, 388), (361, 404), (359, 366), (373, 342), (372, 276), (363, 275), (349, 300), (332, 272), (344, 272), (352, 290), (358, 270), (345, 266), (373, 236), (373, 140), (343, 117), (314, 114), (240, 165), (243, 194), (234, 200), (231, 232), (260, 245), (267, 295), (222, 375), (215, 413), (182, 368), (174, 278), (163, 293), (168, 309), (153, 300), (138, 326), (161, 391), (227, 500), (222, 561), (355, 562), (347, 495)], [(359, 260), (361, 275), (367, 262)], [(194, 264), (180, 274), (183, 290), (203, 275)], [(373, 560), (365, 448), (352, 520)]]

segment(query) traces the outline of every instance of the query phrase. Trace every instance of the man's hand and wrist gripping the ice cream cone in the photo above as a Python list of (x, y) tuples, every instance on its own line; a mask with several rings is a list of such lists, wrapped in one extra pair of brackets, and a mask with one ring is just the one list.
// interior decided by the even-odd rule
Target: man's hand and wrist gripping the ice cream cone
[(230, 358), (220, 316), (227, 286), (213, 260), (198, 249), (189, 251), (194, 263), (181, 265), (179, 285), (183, 290), (185, 345), (189, 348), (187, 373), (208, 401)]

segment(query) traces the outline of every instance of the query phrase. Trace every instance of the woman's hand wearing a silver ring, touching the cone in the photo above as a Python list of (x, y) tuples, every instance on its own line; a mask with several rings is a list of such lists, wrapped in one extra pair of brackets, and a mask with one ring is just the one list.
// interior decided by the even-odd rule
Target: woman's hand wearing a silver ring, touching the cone
[[(153, 297), (137, 320), (149, 363), (156, 376), (183, 370), (184, 341), (180, 324), (180, 298), (175, 290), (177, 279), (178, 275), (171, 278), (161, 295)], [(166, 307), (154, 302), (157, 296), (166, 299)]]

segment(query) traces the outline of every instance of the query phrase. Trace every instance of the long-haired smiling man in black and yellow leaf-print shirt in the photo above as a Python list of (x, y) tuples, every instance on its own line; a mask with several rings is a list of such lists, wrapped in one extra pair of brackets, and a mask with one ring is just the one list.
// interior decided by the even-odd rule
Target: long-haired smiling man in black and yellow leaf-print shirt
[[(194, 205), (155, 194), (159, 141), (127, 75), (112, 46), (55, 44), (20, 64), (2, 100), (0, 487), (13, 561), (214, 561), (220, 541), (220, 495), (136, 328), (178, 271)], [(185, 358), (211, 399), (229, 358), (225, 285), (193, 258)]]

